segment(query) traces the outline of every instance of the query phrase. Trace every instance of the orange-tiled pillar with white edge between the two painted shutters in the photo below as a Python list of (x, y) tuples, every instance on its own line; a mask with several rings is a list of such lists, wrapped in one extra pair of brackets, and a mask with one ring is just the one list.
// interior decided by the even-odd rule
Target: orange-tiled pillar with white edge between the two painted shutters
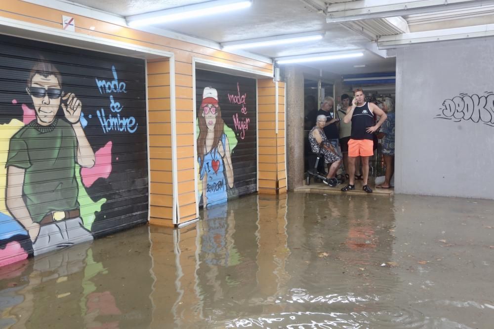
[(179, 52), (147, 66), (150, 223), (173, 226), (198, 218), (192, 57)]

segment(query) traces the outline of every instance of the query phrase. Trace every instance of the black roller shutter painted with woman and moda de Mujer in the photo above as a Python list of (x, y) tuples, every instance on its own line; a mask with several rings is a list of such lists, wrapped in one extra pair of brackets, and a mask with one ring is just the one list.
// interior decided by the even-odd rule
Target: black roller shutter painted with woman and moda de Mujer
[(255, 79), (196, 70), (198, 193), (207, 208), (257, 190), (255, 86)]

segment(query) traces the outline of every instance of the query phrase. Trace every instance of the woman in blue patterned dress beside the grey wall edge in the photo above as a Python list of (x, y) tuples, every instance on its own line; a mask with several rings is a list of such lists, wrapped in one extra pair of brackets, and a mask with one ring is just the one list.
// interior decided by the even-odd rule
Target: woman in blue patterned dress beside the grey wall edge
[(395, 166), (395, 106), (391, 97), (386, 97), (381, 103), (382, 110), (386, 112), (388, 118), (381, 126), (378, 138), (382, 138), (382, 158), (386, 171), (384, 174), (384, 183), (377, 185), (375, 188), (390, 188), (391, 177), (394, 174)]

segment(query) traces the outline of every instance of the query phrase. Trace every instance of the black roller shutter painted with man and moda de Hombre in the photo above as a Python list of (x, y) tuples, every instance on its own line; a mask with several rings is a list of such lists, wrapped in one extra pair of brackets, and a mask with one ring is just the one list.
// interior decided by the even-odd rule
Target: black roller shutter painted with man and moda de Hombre
[(0, 36), (0, 265), (146, 222), (146, 136), (144, 60)]

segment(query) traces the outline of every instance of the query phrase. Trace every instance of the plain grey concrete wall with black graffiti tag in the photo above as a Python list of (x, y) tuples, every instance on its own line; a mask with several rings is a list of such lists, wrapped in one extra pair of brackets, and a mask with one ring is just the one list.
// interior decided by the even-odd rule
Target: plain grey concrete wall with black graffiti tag
[(397, 50), (398, 193), (494, 199), (494, 38)]

